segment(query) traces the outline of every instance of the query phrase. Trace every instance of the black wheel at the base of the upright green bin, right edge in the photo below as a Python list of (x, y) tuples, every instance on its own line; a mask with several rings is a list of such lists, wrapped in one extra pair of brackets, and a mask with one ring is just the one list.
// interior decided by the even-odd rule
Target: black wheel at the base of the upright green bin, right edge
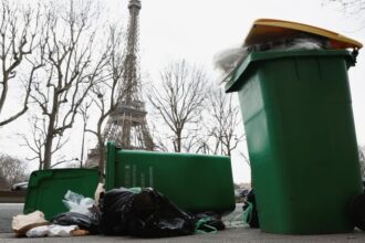
[(356, 196), (352, 200), (350, 216), (355, 226), (365, 231), (365, 192)]

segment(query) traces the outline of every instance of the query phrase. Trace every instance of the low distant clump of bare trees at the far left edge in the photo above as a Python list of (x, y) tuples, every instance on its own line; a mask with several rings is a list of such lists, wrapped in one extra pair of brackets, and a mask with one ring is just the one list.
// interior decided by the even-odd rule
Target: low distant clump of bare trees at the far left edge
[(9, 184), (27, 180), (27, 163), (8, 155), (0, 155), (0, 175)]

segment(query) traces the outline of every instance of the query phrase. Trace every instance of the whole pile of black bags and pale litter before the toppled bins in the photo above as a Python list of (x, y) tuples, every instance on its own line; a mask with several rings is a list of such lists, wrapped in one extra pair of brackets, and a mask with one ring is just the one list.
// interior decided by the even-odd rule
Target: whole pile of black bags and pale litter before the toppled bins
[(80, 236), (87, 234), (166, 237), (223, 230), (216, 212), (185, 212), (153, 188), (119, 188), (101, 192), (94, 201), (69, 191), (69, 212), (50, 222), (40, 211), (13, 218), (17, 236)]

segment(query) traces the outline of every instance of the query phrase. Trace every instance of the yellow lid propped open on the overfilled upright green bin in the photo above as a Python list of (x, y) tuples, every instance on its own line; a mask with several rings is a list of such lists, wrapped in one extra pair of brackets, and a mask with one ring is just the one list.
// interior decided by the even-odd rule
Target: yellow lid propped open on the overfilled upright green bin
[(363, 44), (317, 27), (312, 27), (303, 23), (290, 22), (284, 20), (259, 19), (253, 22), (253, 25), (244, 40), (243, 45), (252, 45), (262, 42), (271, 41), (275, 38), (293, 36), (300, 32), (315, 34), (327, 38), (333, 49), (361, 49)]

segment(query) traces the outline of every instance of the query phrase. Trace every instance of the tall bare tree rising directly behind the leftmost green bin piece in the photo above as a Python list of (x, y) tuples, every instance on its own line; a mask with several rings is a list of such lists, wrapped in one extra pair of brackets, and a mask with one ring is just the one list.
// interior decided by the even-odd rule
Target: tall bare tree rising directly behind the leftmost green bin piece
[(40, 169), (52, 167), (52, 155), (65, 144), (64, 133), (72, 128), (93, 85), (101, 82), (106, 64), (106, 57), (94, 50), (92, 4), (77, 3), (81, 3), (77, 8), (75, 1), (59, 8), (51, 6), (44, 12), (41, 39), (44, 50), (40, 54), (45, 65), (33, 80), (30, 95), (40, 113), (33, 118), (33, 138), (24, 137), (25, 145), (34, 152), (31, 159), (39, 160)]

